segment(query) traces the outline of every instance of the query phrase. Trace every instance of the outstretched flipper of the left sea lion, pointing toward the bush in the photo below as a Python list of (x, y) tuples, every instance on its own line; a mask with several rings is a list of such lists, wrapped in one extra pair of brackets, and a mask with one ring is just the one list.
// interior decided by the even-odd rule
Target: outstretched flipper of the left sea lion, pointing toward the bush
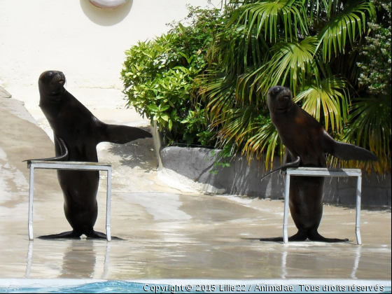
[(125, 144), (137, 139), (151, 138), (152, 134), (139, 127), (128, 127), (126, 125), (108, 125), (106, 123), (97, 122), (99, 124), (99, 142), (111, 142), (116, 144)]

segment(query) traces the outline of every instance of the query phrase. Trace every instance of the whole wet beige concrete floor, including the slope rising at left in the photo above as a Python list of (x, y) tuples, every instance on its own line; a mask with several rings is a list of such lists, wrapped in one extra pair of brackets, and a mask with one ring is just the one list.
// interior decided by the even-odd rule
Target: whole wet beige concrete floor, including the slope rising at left
[[(344, 244), (260, 242), (282, 235), (283, 202), (193, 195), (165, 186), (148, 141), (99, 149), (113, 165), (112, 235), (125, 241), (41, 240), (70, 230), (54, 171), (36, 172), (34, 237), (27, 234), (28, 172), (21, 160), (51, 156), (48, 136), (20, 105), (0, 100), (0, 278), (391, 279), (391, 211), (325, 207), (319, 232)], [(27, 119), (28, 118), (28, 119)], [(3, 127), (4, 126), (4, 127)], [(151, 142), (150, 142), (151, 143)], [(148, 155), (149, 154), (149, 155)], [(105, 230), (104, 176), (95, 230)], [(289, 235), (296, 230), (289, 220)]]

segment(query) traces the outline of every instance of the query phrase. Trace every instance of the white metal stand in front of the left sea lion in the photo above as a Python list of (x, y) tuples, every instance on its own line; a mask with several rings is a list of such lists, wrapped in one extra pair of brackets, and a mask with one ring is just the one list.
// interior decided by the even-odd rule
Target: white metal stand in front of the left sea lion
[(111, 165), (99, 162), (66, 162), (29, 160), (27, 168), (30, 169), (29, 189), (29, 240), (33, 241), (33, 197), (34, 197), (34, 169), (71, 169), (88, 171), (106, 171), (108, 173), (108, 187), (106, 191), (106, 239), (111, 241)]

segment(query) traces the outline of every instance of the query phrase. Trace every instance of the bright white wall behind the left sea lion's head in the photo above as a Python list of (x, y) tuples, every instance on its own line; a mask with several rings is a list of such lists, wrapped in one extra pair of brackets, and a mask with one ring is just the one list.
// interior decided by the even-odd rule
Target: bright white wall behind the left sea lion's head
[(0, 86), (36, 109), (38, 76), (55, 69), (86, 106), (122, 106), (125, 50), (165, 33), (165, 24), (186, 17), (187, 3), (207, 6), (207, 0), (128, 0), (102, 10), (88, 0), (0, 0)]

